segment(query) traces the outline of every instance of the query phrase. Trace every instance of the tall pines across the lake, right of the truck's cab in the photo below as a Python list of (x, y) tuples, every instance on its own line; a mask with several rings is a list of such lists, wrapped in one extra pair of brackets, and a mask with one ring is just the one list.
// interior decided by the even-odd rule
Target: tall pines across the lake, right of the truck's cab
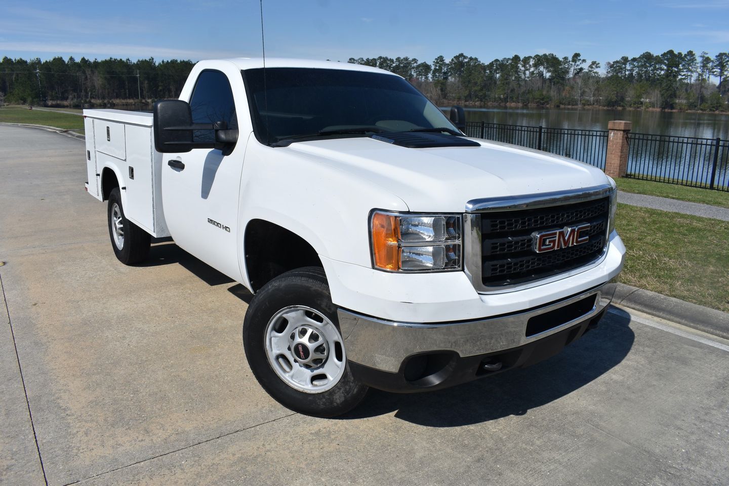
[[(729, 53), (696, 55), (668, 50), (605, 63), (535, 54), (484, 63), (464, 53), (432, 63), (416, 58), (349, 58), (410, 79), (440, 103), (521, 103), (544, 106), (608, 106), (660, 109), (726, 110)], [(714, 83), (718, 79), (718, 83)]]

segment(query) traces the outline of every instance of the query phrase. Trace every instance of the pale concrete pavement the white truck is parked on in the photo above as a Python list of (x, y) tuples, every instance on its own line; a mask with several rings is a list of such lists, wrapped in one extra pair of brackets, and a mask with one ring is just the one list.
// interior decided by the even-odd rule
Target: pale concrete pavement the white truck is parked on
[(617, 309), (537, 367), (290, 412), (241, 286), (174, 243), (117, 262), (84, 152), (0, 127), (2, 485), (727, 484), (728, 343)]

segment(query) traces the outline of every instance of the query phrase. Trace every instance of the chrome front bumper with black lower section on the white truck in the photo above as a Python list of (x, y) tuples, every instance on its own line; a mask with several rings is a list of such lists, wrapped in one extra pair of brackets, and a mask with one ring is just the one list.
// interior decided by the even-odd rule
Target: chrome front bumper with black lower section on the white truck
[(615, 284), (603, 283), (556, 302), (475, 321), (394, 322), (343, 309), (338, 317), (359, 380), (388, 391), (433, 390), (552, 356), (597, 325), (614, 292)]

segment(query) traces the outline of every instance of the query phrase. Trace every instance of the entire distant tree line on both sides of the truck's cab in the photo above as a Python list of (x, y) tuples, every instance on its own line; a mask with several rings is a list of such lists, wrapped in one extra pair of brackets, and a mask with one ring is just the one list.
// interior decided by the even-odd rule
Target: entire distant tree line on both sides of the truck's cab
[[(605, 63), (535, 54), (484, 63), (460, 53), (432, 63), (416, 58), (350, 58), (350, 63), (386, 69), (409, 79), (436, 103), (519, 103), (542, 106), (607, 106), (660, 109), (729, 108), (729, 53), (651, 52)], [(5, 103), (154, 101), (179, 96), (191, 60), (131, 61), (61, 57), (2, 58), (0, 97)], [(714, 81), (717, 82), (714, 82)]]

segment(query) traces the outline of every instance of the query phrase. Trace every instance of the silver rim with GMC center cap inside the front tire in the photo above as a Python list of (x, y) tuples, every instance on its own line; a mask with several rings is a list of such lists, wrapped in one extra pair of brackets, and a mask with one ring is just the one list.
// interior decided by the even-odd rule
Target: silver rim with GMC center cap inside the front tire
[(332, 321), (311, 307), (279, 310), (268, 321), (263, 339), (273, 371), (298, 391), (327, 391), (344, 373), (342, 337)]

